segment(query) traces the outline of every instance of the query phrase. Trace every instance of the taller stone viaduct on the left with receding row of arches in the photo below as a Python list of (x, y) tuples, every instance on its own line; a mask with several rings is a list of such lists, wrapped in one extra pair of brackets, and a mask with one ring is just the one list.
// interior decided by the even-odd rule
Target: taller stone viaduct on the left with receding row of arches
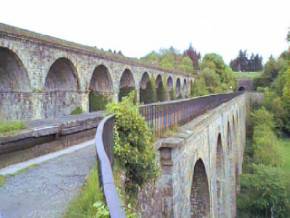
[(91, 92), (117, 101), (121, 89), (136, 89), (142, 99), (149, 78), (177, 97), (188, 96), (193, 82), (180, 72), (0, 24), (0, 120), (89, 111)]

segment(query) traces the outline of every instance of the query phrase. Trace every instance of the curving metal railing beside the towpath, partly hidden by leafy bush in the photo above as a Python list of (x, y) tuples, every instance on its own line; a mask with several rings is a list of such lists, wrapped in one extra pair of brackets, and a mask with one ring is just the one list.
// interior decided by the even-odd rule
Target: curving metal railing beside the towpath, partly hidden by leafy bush
[[(182, 125), (193, 118), (231, 100), (241, 93), (209, 95), (184, 100), (167, 101), (140, 106), (140, 113), (145, 117), (155, 135), (161, 135), (166, 129)], [(113, 127), (114, 116), (105, 117), (96, 133), (97, 157), (101, 184), (112, 218), (125, 217), (124, 208), (114, 184), (113, 165)]]

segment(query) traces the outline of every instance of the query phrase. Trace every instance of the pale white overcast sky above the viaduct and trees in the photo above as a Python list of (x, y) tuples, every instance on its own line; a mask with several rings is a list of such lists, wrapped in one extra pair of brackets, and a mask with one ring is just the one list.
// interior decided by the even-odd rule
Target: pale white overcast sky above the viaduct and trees
[(189, 43), (228, 62), (288, 48), (289, 0), (3, 0), (0, 22), (141, 57)]

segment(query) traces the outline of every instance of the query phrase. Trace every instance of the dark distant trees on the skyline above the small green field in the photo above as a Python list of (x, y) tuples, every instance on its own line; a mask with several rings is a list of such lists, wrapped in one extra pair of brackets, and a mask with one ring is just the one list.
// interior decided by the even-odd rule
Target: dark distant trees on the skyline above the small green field
[(262, 56), (252, 53), (251, 56), (248, 57), (246, 50), (240, 50), (238, 57), (231, 60), (230, 67), (233, 71), (256, 72), (263, 69), (262, 61)]

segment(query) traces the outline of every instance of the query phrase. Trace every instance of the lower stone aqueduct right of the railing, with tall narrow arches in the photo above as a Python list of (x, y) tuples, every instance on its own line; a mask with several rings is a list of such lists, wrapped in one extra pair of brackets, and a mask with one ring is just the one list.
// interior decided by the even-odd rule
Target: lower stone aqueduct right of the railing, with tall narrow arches
[(239, 95), (160, 139), (162, 173), (154, 200), (148, 190), (140, 195), (143, 217), (236, 217), (247, 99)]

